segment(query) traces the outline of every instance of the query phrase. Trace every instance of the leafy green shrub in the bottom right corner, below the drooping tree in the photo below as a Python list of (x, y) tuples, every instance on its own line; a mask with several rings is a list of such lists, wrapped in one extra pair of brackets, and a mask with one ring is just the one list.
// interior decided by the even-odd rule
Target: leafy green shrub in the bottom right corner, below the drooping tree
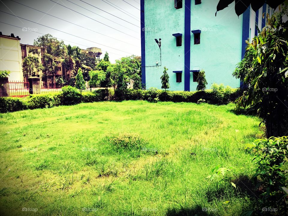
[(288, 210), (285, 202), (288, 193), (288, 137), (259, 139), (247, 147), (250, 147), (249, 151), (255, 156), (253, 161), (256, 160), (258, 165), (254, 170), (253, 181), (257, 183), (256, 189), (263, 192), (256, 211), (274, 208), (277, 209), (277, 215), (285, 215)]

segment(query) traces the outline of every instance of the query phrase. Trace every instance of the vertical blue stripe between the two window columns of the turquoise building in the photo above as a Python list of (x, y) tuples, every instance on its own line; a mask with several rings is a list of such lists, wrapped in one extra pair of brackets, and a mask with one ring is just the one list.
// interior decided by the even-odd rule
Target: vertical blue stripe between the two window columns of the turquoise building
[(191, 0), (185, 0), (184, 19), (184, 91), (190, 91)]

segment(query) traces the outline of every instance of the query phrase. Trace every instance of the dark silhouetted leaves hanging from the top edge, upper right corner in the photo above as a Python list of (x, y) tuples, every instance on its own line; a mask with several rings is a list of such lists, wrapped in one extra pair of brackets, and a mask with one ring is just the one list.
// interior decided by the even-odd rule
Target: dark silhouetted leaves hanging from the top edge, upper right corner
[[(232, 4), (234, 0), (220, 0), (217, 5), (217, 11), (215, 13), (215, 16), (219, 10), (223, 10), (224, 8), (228, 7), (229, 4)], [(247, 8), (251, 4), (251, 8), (256, 12), (259, 10), (260, 7), (263, 6), (263, 4), (266, 2), (270, 7), (276, 9), (280, 4), (283, 4), (285, 0), (261, 0), (261, 1), (255, 1), (255, 0), (235, 0), (235, 12), (238, 16), (240, 16), (242, 13), (247, 10)]]

